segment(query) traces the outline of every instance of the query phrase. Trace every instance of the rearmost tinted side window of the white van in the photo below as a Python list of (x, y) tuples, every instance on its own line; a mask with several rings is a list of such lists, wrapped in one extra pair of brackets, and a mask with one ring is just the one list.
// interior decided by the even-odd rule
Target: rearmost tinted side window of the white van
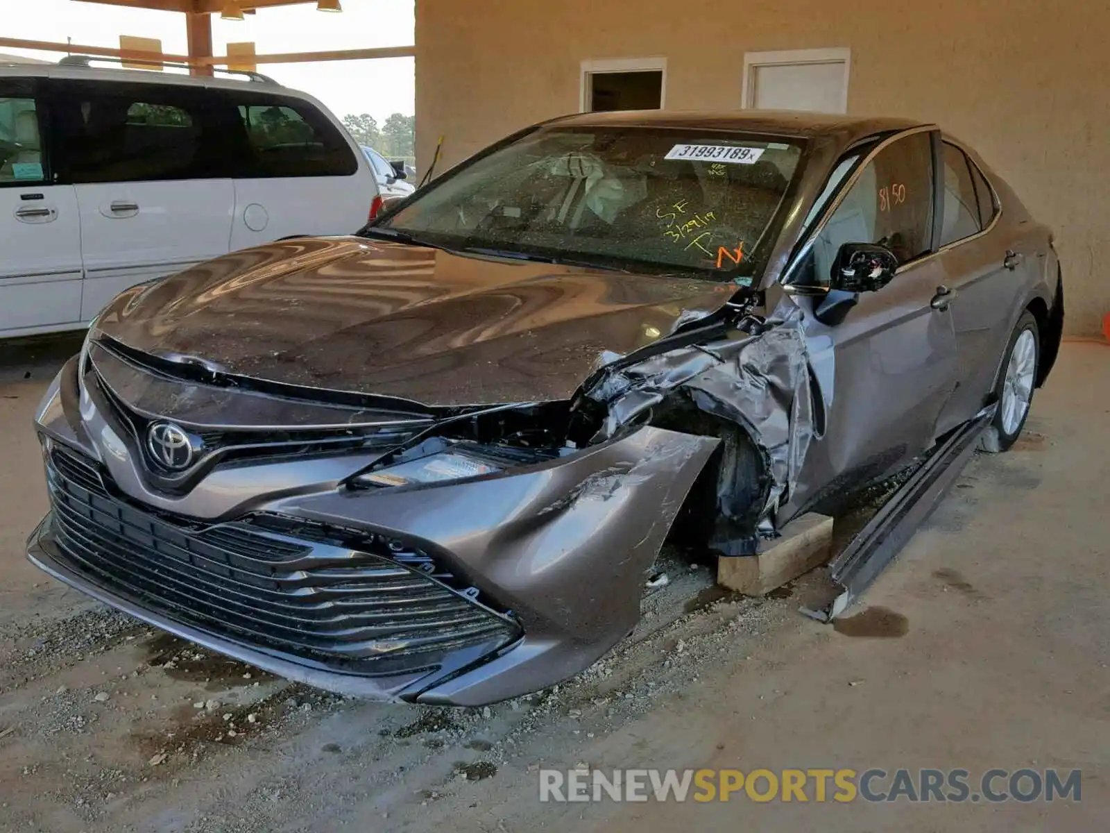
[(351, 147), (306, 102), (235, 96), (250, 159), (234, 177), (350, 177), (359, 170)]

